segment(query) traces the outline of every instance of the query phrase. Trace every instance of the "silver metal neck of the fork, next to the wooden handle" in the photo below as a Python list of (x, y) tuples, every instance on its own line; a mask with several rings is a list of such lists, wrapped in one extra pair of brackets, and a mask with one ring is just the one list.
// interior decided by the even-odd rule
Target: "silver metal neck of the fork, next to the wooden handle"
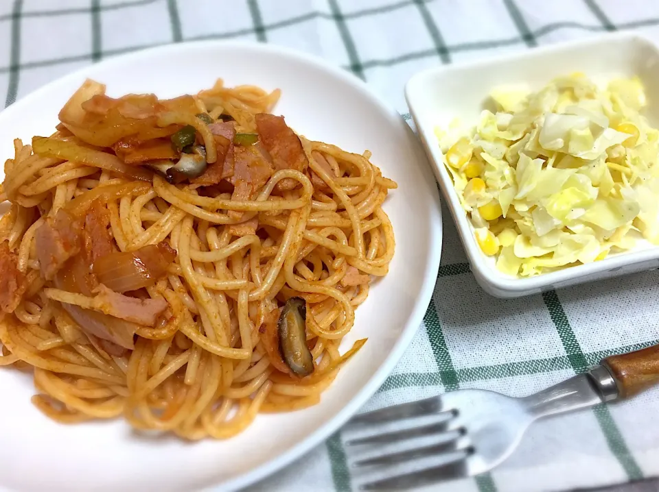
[(521, 399), (529, 413), (539, 418), (609, 402), (617, 397), (618, 389), (609, 371), (597, 366)]

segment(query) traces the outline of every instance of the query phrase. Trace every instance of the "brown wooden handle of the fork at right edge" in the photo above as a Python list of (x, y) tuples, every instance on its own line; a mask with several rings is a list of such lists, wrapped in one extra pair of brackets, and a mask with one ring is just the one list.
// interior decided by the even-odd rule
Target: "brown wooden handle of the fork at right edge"
[(638, 395), (659, 384), (659, 345), (628, 354), (609, 356), (601, 361), (618, 386), (618, 397)]

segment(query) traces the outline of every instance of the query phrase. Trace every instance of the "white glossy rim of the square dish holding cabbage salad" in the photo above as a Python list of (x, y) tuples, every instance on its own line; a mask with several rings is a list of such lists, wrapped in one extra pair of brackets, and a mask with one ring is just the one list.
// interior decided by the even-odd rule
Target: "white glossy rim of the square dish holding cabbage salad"
[(489, 265), (487, 263), (485, 254), (483, 254), (476, 243), (476, 238), (473, 232), (474, 227), (467, 219), (467, 215), (460, 204), (459, 197), (454, 190), (452, 179), (441, 160), (443, 154), (436, 143), (436, 137), (434, 134), (435, 125), (432, 125), (432, 123), (426, 123), (426, 121), (419, 116), (419, 106), (421, 106), (422, 94), (421, 90), (417, 88), (417, 84), (432, 75), (482, 69), (485, 66), (492, 66), (502, 62), (533, 63), (535, 60), (553, 53), (569, 53), (574, 49), (597, 47), (611, 42), (626, 42), (630, 44), (636, 43), (645, 45), (654, 51), (659, 58), (659, 46), (655, 42), (642, 34), (623, 31), (602, 34), (587, 39), (557, 42), (553, 45), (535, 47), (533, 49), (518, 51), (516, 53), (507, 53), (487, 59), (433, 66), (412, 75), (405, 85), (405, 99), (408, 103), (410, 114), (415, 122), (419, 136), (421, 136), (421, 141), (424, 143), (424, 148), (426, 149), (428, 158), (432, 163), (443, 197), (448, 202), (448, 208), (453, 217), (463, 246), (465, 247), (467, 259), (474, 270), (476, 279), (479, 280), (479, 282), (485, 282), (485, 284), (494, 288), (494, 290), (499, 293), (527, 295), (546, 290), (546, 288), (551, 288), (569, 280), (588, 277), (597, 273), (605, 273), (606, 271), (617, 271), (625, 266), (636, 265), (649, 260), (656, 260), (659, 258), (659, 246), (647, 247), (636, 251), (634, 249), (623, 251), (597, 262), (576, 265), (574, 267), (568, 267), (550, 273), (541, 273), (534, 277), (513, 277), (512, 275), (505, 275), (504, 273), (498, 272), (494, 265)]

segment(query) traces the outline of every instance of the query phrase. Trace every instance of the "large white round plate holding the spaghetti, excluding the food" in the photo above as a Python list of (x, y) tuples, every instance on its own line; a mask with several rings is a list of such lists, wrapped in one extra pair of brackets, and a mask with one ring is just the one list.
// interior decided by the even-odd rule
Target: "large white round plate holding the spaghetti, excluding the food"
[(372, 161), (398, 183), (384, 210), (396, 252), (389, 274), (357, 310), (344, 352), (368, 343), (340, 371), (321, 403), (294, 413), (259, 415), (227, 441), (198, 443), (147, 437), (117, 419), (73, 426), (54, 423), (30, 404), (31, 376), (0, 369), (0, 487), (9, 490), (238, 489), (264, 478), (338, 429), (384, 382), (421, 324), (435, 286), (441, 215), (435, 178), (402, 117), (367, 86), (324, 62), (280, 47), (235, 42), (169, 45), (113, 58), (52, 82), (0, 113), (0, 157), (12, 140), (49, 135), (63, 104), (86, 77), (108, 95), (174, 97), (212, 86), (281, 88), (275, 108), (294, 130), (343, 149), (373, 152)]

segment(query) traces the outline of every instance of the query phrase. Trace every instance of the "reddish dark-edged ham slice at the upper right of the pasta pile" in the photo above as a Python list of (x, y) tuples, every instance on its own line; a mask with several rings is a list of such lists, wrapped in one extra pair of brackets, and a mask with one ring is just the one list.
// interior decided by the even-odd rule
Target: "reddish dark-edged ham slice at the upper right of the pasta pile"
[[(255, 116), (259, 138), (273, 158), (275, 171), (295, 169), (303, 173), (308, 165), (300, 138), (291, 130), (284, 116), (259, 113)], [(298, 186), (295, 180), (286, 178), (277, 183), (277, 190), (292, 190)]]

